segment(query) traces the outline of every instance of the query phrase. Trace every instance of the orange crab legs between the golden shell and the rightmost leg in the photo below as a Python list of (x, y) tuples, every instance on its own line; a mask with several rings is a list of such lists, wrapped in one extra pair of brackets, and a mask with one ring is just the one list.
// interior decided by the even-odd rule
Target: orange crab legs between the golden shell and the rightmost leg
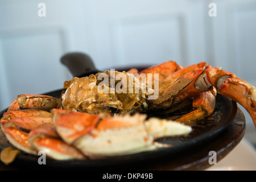
[(196, 82), (203, 73), (205, 66), (207, 66), (205, 62), (194, 64), (180, 69), (166, 78), (161, 84), (162, 89), (159, 90), (160, 97), (150, 101), (150, 107), (168, 108), (188, 98), (193, 98), (195, 110), (176, 121), (191, 121), (212, 114), (215, 107), (216, 90), (213, 87), (207, 88), (208, 91), (196, 88)]

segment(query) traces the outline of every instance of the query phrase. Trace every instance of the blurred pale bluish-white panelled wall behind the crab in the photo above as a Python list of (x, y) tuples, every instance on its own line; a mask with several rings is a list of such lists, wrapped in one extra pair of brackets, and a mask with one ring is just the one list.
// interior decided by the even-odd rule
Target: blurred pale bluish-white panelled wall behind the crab
[[(217, 16), (210, 17), (209, 3)], [(46, 16), (38, 16), (45, 3)], [(1, 0), (0, 110), (18, 94), (63, 88), (67, 52), (98, 69), (207, 61), (256, 85), (255, 0)], [(246, 138), (256, 131), (246, 115)]]

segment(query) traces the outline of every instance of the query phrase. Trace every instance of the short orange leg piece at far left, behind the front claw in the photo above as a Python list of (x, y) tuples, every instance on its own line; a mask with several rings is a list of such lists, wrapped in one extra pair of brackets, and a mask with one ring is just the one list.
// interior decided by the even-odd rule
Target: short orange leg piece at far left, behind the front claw
[(22, 108), (50, 110), (60, 107), (56, 98), (45, 95), (20, 94), (10, 105), (8, 111), (20, 110)]

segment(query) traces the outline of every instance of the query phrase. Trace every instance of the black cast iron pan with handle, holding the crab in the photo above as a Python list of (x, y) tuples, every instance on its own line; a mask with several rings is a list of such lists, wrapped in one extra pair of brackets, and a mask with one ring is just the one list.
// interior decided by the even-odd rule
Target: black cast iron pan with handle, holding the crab
[[(69, 64), (68, 62), (73, 59), (67, 59), (67, 56), (75, 56), (76, 55), (83, 56), (81, 53), (75, 53), (75, 54), (68, 54), (63, 56), (63, 59), (61, 59), (61, 62), (64, 64)], [(90, 62), (90, 67), (92, 69), (86, 69), (85, 67), (80, 67), (81, 69), (79, 72), (76, 72), (75, 67), (71, 69), (71, 72), (74, 76), (88, 76), (90, 73), (98, 72), (98, 70), (94, 67), (92, 64), (92, 61), (88, 56), (85, 56), (87, 60)], [(70, 57), (69, 57), (70, 58)], [(69, 60), (69, 61), (68, 61)], [(76, 59), (75, 59), (76, 60)], [(84, 60), (77, 59), (77, 62)], [(77, 65), (80, 65), (79, 63)], [(129, 69), (129, 68), (128, 68)], [(125, 69), (124, 69), (125, 70)], [(127, 69), (126, 69), (127, 70)], [(85, 72), (82, 73), (82, 71)], [(121, 70), (120, 70), (121, 71)], [(75, 74), (77, 73), (77, 74)], [(56, 98), (60, 97), (61, 92), (63, 89), (55, 90), (48, 93), (43, 93), (48, 96), (53, 96)], [(183, 115), (185, 113), (188, 113), (189, 111), (192, 111), (193, 108), (188, 107), (184, 110), (176, 111), (175, 113), (168, 113), (166, 110), (158, 110), (158, 111), (150, 111), (146, 114), (148, 114), (148, 117), (159, 117), (159, 118), (175, 118), (179, 117), (180, 115)], [(5, 113), (7, 109), (2, 110), (0, 113), (0, 118), (2, 118), (3, 113)], [(14, 166), (23, 167), (26, 166), (26, 168), (32, 168), (32, 169), (136, 169), (140, 166), (145, 166), (150, 163), (159, 163), (162, 160), (169, 160), (171, 158), (174, 158), (175, 155), (180, 155), (182, 152), (186, 151), (187, 149), (191, 150), (192, 148), (195, 148), (199, 145), (204, 144), (205, 142), (210, 142), (210, 140), (214, 139), (218, 134), (220, 134), (222, 131), (226, 129), (226, 127), (232, 122), (232, 119), (234, 118), (234, 115), (237, 112), (237, 104), (236, 102), (230, 100), (229, 98), (225, 96), (221, 96), (220, 94), (217, 94), (216, 97), (216, 107), (214, 109), (214, 112), (212, 115), (205, 117), (204, 119), (201, 119), (199, 121), (195, 122), (186, 122), (186, 125), (192, 126), (192, 132), (186, 136), (186, 137), (164, 137), (160, 138), (157, 141), (160, 143), (167, 143), (171, 144), (172, 147), (168, 148), (161, 148), (154, 151), (148, 151), (148, 152), (141, 152), (138, 154), (133, 155), (126, 155), (126, 156), (119, 156), (119, 157), (113, 157), (113, 158), (107, 158), (107, 159), (93, 159), (93, 160), (66, 160), (66, 161), (58, 161), (54, 159), (47, 158), (46, 165), (39, 165), (38, 159), (40, 156), (36, 155), (29, 155), (25, 153), (19, 154), (15, 161), (12, 163)], [(1, 132), (0, 134), (0, 150), (2, 151), (5, 147), (13, 147), (9, 141), (6, 139), (5, 135)], [(15, 147), (14, 147), (15, 148)]]

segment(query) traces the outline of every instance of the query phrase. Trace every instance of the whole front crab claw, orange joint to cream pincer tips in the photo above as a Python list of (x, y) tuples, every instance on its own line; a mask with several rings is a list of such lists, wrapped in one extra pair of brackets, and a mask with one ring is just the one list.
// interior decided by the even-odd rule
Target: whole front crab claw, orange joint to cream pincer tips
[(146, 115), (99, 115), (53, 109), (54, 123), (61, 138), (89, 158), (122, 156), (166, 147), (155, 138), (184, 135), (191, 127), (171, 121), (150, 119)]

